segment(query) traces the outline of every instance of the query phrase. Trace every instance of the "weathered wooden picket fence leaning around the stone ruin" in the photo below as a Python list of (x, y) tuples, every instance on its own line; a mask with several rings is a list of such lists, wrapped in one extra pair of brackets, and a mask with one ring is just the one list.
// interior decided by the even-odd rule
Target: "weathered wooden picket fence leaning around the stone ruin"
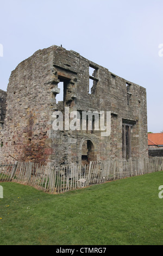
[(163, 157), (108, 160), (89, 165), (43, 166), (33, 162), (0, 164), (0, 182), (15, 181), (49, 193), (101, 184), (106, 181), (163, 170)]

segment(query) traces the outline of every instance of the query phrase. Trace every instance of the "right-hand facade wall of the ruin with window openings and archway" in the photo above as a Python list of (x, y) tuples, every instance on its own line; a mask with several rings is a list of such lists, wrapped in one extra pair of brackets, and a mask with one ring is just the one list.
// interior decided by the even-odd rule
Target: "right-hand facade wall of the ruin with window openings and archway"
[[(56, 78), (70, 78), (65, 106), (70, 111), (111, 111), (111, 135), (101, 137), (100, 132), (91, 134), (85, 131), (58, 132), (58, 138), (52, 138), (54, 147), (62, 145), (60, 163), (81, 161), (81, 144), (90, 139), (95, 148), (95, 160), (106, 160), (109, 157), (122, 157), (122, 121), (133, 121), (131, 129), (131, 156), (147, 157), (147, 102), (146, 89), (111, 74), (102, 66), (90, 62), (78, 53), (60, 48), (60, 54), (54, 52)], [(89, 66), (96, 69), (97, 81), (89, 94)], [(61, 110), (61, 106), (54, 108)], [(56, 132), (52, 130), (52, 137)], [(65, 148), (65, 144), (67, 147)], [(60, 148), (58, 148), (60, 150)], [(54, 162), (56, 155), (51, 156)]]

